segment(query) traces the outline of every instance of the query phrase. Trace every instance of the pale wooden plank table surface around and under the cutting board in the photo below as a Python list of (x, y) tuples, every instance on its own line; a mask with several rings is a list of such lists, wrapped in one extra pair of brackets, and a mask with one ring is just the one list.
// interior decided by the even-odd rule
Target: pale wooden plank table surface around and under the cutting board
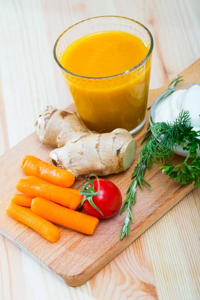
[[(34, 130), (47, 104), (72, 102), (52, 55), (68, 26), (105, 14), (146, 25), (156, 88), (199, 57), (199, 13), (198, 0), (0, 0), (0, 154)], [(199, 299), (199, 207), (198, 188), (76, 288), (0, 235), (0, 300)]]

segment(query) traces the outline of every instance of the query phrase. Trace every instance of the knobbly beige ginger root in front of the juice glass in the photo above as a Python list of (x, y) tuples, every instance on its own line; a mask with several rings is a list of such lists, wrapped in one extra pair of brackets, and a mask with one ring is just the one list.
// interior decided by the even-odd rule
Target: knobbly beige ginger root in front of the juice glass
[(127, 169), (134, 159), (136, 143), (127, 130), (89, 132), (76, 112), (47, 106), (36, 126), (39, 140), (57, 147), (50, 152), (52, 162), (76, 177), (118, 173)]

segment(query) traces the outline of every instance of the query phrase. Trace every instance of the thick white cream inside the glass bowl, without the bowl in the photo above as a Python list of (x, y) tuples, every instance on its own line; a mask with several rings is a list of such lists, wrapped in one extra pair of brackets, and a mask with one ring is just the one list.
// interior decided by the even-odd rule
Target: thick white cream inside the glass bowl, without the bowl
[[(166, 97), (156, 108), (154, 122), (173, 122), (182, 110), (189, 110), (193, 130), (200, 130), (200, 86), (193, 85), (188, 89), (179, 89)], [(200, 136), (198, 137), (200, 139)], [(186, 156), (181, 146), (174, 150), (179, 155)], [(198, 149), (198, 155), (200, 151)]]

